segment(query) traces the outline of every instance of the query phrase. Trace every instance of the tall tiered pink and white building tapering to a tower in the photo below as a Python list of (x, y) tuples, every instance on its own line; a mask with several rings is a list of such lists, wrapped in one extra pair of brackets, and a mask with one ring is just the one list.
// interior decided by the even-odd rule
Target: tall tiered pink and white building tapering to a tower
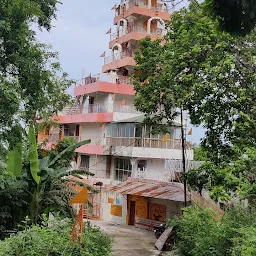
[[(180, 120), (177, 119), (175, 125), (169, 128), (168, 140), (163, 140), (164, 134), (152, 135), (151, 127), (141, 124), (144, 114), (137, 111), (133, 105), (135, 91), (131, 79), (136, 65), (134, 53), (139, 48), (139, 40), (145, 37), (152, 40), (163, 37), (171, 9), (162, 0), (122, 0), (113, 9), (116, 32), (110, 34), (111, 54), (104, 58), (102, 73), (89, 75), (78, 82), (74, 89), (75, 104), (64, 109), (58, 116), (62, 129), (52, 131), (47, 136), (50, 136), (50, 140), (63, 137), (74, 137), (79, 141), (91, 139), (91, 144), (76, 150), (80, 168), (95, 173), (95, 179), (102, 181), (104, 185), (116, 185), (120, 182), (128, 182), (131, 185), (144, 180), (153, 184), (149, 189), (151, 192), (165, 187), (167, 192), (155, 191), (155, 198), (162, 200), (164, 204), (166, 200), (173, 203), (175, 210), (172, 204), (165, 206), (166, 209), (170, 208), (169, 213), (175, 213), (177, 209), (180, 212), (184, 201), (181, 184), (163, 183), (175, 180), (175, 172), (180, 171), (179, 168), (170, 170), (166, 167), (166, 159), (182, 159)], [(44, 136), (41, 135), (40, 139), (44, 139)], [(187, 148), (186, 156), (188, 160), (193, 160), (193, 150)], [(133, 178), (133, 182), (128, 178)], [(174, 187), (178, 188), (181, 195), (168, 197), (168, 193), (171, 193), (169, 190)], [(132, 187), (129, 191), (131, 190)], [(113, 191), (118, 192), (117, 188), (112, 188), (111, 193), (114, 193)], [(149, 206), (145, 206), (146, 194), (141, 200), (142, 206), (136, 206), (130, 203), (134, 200), (129, 196), (125, 200), (122, 196), (117, 199), (118, 196), (111, 198), (109, 193), (106, 192), (105, 197), (102, 196), (102, 216), (105, 219), (133, 224), (133, 217), (149, 217), (146, 213)], [(121, 194), (120, 191), (118, 193)], [(127, 192), (126, 195), (128, 194)], [(134, 195), (136, 196), (136, 193)], [(139, 193), (136, 200), (139, 200), (138, 195)], [(154, 200), (151, 201), (157, 205)], [(118, 205), (127, 202), (129, 205), (123, 206), (120, 212)], [(112, 207), (113, 205), (116, 208)], [(113, 208), (112, 215), (110, 208)], [(140, 208), (141, 213), (127, 217), (131, 216), (133, 208), (136, 213)], [(122, 218), (119, 218), (120, 215)], [(167, 217), (169, 215), (165, 214)]]

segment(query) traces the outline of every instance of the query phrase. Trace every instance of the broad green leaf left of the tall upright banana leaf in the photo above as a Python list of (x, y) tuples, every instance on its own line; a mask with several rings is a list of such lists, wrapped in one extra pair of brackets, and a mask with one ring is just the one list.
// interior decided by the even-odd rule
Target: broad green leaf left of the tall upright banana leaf
[(8, 152), (7, 155), (7, 172), (19, 176), (22, 171), (22, 143), (16, 145), (16, 147)]

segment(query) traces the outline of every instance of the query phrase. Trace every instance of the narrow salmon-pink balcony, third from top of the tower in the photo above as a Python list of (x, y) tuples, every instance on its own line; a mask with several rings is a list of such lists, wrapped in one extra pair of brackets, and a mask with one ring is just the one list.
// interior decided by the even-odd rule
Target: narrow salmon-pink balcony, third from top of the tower
[(136, 66), (136, 62), (134, 60), (133, 52), (130, 52), (130, 51), (122, 52), (122, 53), (118, 52), (104, 59), (102, 72), (106, 73), (109, 70), (116, 70), (121, 67), (135, 67), (135, 66)]

